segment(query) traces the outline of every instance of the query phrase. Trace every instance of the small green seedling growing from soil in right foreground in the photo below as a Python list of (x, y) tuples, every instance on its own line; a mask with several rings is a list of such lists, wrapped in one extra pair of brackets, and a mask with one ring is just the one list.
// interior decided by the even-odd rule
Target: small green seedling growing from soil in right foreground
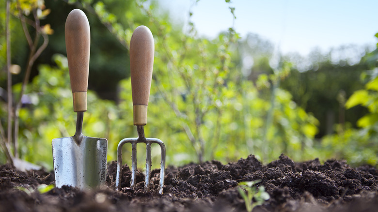
[(252, 212), (254, 207), (262, 205), (265, 200), (269, 199), (269, 194), (265, 191), (264, 186), (261, 185), (258, 189), (256, 189), (256, 186), (253, 186), (259, 182), (261, 182), (261, 180), (239, 182), (238, 184), (237, 190), (241, 197), (243, 197), (248, 212)]

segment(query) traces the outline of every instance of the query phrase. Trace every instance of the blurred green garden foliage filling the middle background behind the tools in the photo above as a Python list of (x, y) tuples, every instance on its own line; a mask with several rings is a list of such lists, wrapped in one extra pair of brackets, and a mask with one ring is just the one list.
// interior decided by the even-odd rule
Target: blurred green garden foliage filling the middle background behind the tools
[[(370, 118), (358, 122), (361, 129), (353, 128), (353, 119), (357, 118), (346, 118), (337, 125), (336, 134), (315, 140), (316, 134), (325, 131), (321, 116), (325, 112), (321, 109), (339, 111), (353, 91), (362, 89), (356, 75), (362, 73), (367, 62), (374, 64), (372, 58), (350, 65), (320, 58), (312, 63), (316, 70), (303, 72), (299, 63), (274, 53), (268, 41), (253, 34), (241, 39), (232, 26), (217, 38), (199, 37), (190, 21), (191, 11), (188, 28), (183, 31), (166, 12), (158, 10), (156, 1), (50, 0), (46, 7), (54, 15), (49, 15), (43, 24), (50, 24), (54, 34), (49, 35), (49, 45), (33, 67), (34, 75), (19, 114), (20, 151), (27, 161), (51, 168), (51, 140), (75, 132), (76, 114), (64, 56), (64, 21), (74, 8), (85, 12), (91, 26), (88, 111), (84, 114), (83, 134), (108, 139), (108, 161), (116, 159), (121, 139), (137, 136), (132, 124), (127, 49), (132, 31), (139, 25), (147, 26), (155, 39), (145, 135), (164, 141), (168, 164), (212, 159), (226, 163), (249, 154), (268, 162), (282, 152), (294, 160), (337, 157), (353, 164), (373, 164), (377, 158), (377, 148), (372, 148), (375, 143), (369, 140), (378, 121), (374, 118), (378, 114), (373, 115), (377, 111), (368, 106), (374, 105), (374, 86), (357, 91), (359, 94), (347, 101), (348, 107), (354, 101), (354, 106), (369, 108)], [(3, 9), (0, 15), (4, 20)], [(235, 18), (237, 8), (230, 7), (229, 15)], [(12, 62), (24, 70), (27, 56), (23, 46), (27, 43), (16, 19), (11, 20), (11, 26)], [(0, 31), (4, 31), (2, 25)], [(4, 46), (2, 37), (0, 42)], [(4, 52), (0, 48), (1, 67)], [(377, 55), (372, 53), (374, 56)], [(5, 88), (4, 81), (5, 75), (1, 74), (1, 88)], [(15, 92), (21, 89), (19, 82), (16, 77)], [(339, 95), (340, 89), (346, 93)], [(320, 101), (324, 95), (329, 98)], [(372, 102), (360, 100), (366, 96)], [(317, 109), (312, 110), (313, 106)], [(6, 102), (0, 101), (3, 123), (6, 114)], [(361, 121), (364, 119), (370, 122)], [(143, 145), (138, 149), (142, 149), (138, 151), (138, 161), (143, 167)], [(125, 145), (124, 152), (130, 155), (131, 146)], [(153, 167), (159, 167), (158, 146), (152, 146), (152, 156)], [(4, 161), (3, 156), (0, 160)], [(124, 160), (130, 163), (130, 158)]]

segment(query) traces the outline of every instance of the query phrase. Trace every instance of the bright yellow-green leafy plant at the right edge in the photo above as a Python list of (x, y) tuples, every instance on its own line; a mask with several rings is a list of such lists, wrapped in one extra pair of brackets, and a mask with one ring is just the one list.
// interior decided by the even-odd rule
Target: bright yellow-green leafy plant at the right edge
[[(378, 37), (378, 34), (376, 34)], [(378, 44), (377, 44), (378, 46)], [(345, 107), (351, 110), (363, 106), (368, 113), (356, 122), (359, 129), (350, 123), (335, 125), (336, 133), (324, 136), (320, 148), (323, 157), (344, 158), (350, 164), (377, 165), (378, 162), (378, 48), (363, 57), (367, 67), (373, 68), (361, 74), (365, 82), (362, 89), (354, 91), (347, 99)]]

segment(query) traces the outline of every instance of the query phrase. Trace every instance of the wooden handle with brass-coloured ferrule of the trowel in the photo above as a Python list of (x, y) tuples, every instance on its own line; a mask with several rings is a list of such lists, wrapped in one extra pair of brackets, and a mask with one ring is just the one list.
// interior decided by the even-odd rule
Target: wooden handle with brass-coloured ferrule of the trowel
[(75, 9), (68, 14), (64, 36), (74, 111), (84, 112), (87, 110), (91, 32), (88, 18), (83, 11)]

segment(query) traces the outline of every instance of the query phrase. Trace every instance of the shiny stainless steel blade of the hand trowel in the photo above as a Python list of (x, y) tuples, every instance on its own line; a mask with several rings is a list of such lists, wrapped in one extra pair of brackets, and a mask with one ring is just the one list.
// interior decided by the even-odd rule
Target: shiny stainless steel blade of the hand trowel
[(84, 136), (80, 145), (74, 137), (52, 140), (55, 186), (79, 189), (105, 184), (108, 140)]

